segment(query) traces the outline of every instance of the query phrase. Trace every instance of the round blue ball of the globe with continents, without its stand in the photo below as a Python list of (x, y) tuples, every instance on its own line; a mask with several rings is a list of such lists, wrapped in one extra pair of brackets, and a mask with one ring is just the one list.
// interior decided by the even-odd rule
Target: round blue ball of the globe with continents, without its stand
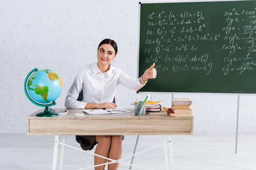
[(38, 70), (29, 77), (27, 89), (33, 100), (47, 104), (55, 101), (61, 95), (62, 82), (54, 71)]

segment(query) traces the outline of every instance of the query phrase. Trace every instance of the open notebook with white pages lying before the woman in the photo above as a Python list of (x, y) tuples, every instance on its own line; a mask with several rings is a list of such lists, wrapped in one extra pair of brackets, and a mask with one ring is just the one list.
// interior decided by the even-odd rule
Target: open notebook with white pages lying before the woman
[(96, 114), (114, 114), (114, 113), (131, 113), (130, 111), (127, 111), (123, 108), (118, 109), (83, 109), (84, 113), (90, 114), (90, 115), (96, 115)]

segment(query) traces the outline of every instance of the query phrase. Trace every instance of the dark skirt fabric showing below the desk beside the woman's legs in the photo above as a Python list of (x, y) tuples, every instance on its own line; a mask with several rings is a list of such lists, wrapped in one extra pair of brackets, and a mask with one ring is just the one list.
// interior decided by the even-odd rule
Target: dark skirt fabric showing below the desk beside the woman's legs
[[(122, 135), (122, 140), (125, 139), (125, 136)], [(95, 141), (96, 136), (89, 136), (89, 135), (82, 135), (78, 136), (76, 135), (76, 142), (78, 142), (82, 148), (82, 150), (92, 150), (93, 147), (98, 144), (98, 142)]]

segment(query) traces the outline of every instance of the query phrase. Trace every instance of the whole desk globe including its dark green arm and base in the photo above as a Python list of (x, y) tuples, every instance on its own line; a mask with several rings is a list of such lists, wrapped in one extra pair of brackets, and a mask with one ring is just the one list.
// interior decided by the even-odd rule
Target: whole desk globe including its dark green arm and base
[(24, 91), (30, 102), (45, 107), (44, 112), (38, 113), (36, 116), (58, 116), (58, 113), (49, 109), (50, 106), (56, 105), (55, 100), (62, 92), (61, 78), (54, 71), (34, 68), (26, 76)]

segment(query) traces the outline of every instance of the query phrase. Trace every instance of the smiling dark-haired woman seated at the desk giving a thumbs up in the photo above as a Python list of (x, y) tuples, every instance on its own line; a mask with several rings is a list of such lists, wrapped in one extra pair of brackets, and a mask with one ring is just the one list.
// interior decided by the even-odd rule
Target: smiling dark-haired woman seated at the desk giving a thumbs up
[[(98, 62), (85, 65), (77, 73), (65, 100), (66, 108), (116, 108), (113, 103), (117, 85), (139, 90), (148, 79), (154, 79), (157, 71), (153, 65), (148, 68), (139, 79), (132, 79), (121, 69), (113, 67), (111, 62), (117, 56), (117, 45), (114, 40), (105, 39), (100, 42), (97, 51)], [(77, 101), (79, 93), (83, 90), (83, 101)], [(78, 141), (83, 150), (91, 150), (98, 144), (95, 154), (110, 159), (120, 159), (122, 155), (122, 136), (82, 136)], [(106, 159), (94, 156), (94, 164), (104, 164)], [(108, 164), (108, 170), (117, 170), (119, 163)], [(95, 167), (103, 170), (105, 165)]]

